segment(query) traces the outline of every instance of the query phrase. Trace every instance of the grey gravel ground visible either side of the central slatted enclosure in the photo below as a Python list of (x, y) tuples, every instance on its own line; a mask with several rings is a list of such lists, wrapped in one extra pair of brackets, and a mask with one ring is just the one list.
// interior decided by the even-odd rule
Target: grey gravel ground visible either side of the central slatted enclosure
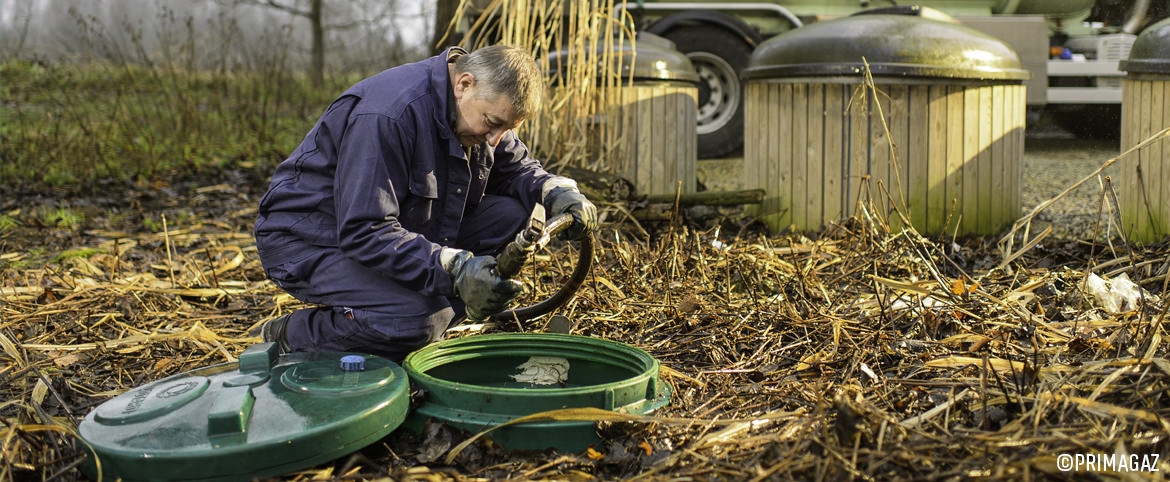
[[(1059, 195), (1089, 175), (1119, 152), (1117, 139), (1080, 139), (1048, 125), (1030, 128), (1024, 145), (1020, 216), (1031, 213), (1039, 204)], [(700, 159), (697, 173), (700, 181), (708, 190), (739, 190), (743, 187), (743, 158)], [(1112, 175), (1116, 185), (1119, 165), (1109, 166), (1103, 174)], [(1057, 200), (1037, 214), (1032, 222), (1032, 233), (1039, 233), (1051, 226), (1053, 236), (1093, 239), (1097, 207), (1101, 204), (1101, 180), (1092, 179)], [(1103, 221), (1102, 226), (1106, 226)], [(1109, 235), (1115, 236), (1116, 230)]]

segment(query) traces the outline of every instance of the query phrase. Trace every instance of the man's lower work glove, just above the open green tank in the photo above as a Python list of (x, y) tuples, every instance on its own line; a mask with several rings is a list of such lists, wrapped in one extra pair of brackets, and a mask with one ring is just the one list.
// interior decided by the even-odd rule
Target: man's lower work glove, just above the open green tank
[(475, 256), (460, 252), (450, 262), (450, 277), (455, 296), (467, 305), (468, 319), (482, 322), (488, 316), (503, 311), (524, 290), (515, 280), (497, 276), (495, 256)]

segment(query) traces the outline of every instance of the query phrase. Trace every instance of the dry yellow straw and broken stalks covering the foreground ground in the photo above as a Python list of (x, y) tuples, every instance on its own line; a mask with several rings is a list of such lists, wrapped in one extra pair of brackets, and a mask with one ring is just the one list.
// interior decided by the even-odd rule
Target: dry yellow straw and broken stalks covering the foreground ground
[[(257, 342), (249, 329), (300, 305), (235, 228), (253, 215), (91, 230), (84, 255), (2, 271), (0, 481), (78, 480), (73, 434), (97, 404), (232, 362)], [(603, 441), (579, 454), (399, 431), (284, 478), (1059, 480), (1062, 453), (1159, 454), (1170, 470), (1165, 243), (1122, 260), (1066, 241), (999, 268), (993, 240), (932, 240), (868, 218), (815, 239), (645, 228), (603, 228), (591, 278), (560, 312), (578, 335), (658, 358), (669, 406), (536, 415), (598, 421)], [(563, 245), (536, 256), (523, 302), (548, 296), (574, 257)], [(1142, 285), (1137, 303), (1103, 309), (1083, 289), (1094, 267)]]

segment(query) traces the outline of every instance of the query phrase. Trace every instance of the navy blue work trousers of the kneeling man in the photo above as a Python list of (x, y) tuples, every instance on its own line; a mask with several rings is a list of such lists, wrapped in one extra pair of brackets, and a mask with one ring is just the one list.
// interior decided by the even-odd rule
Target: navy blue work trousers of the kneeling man
[[(529, 212), (514, 198), (486, 195), (464, 212), (453, 248), (497, 254), (524, 227)], [(400, 362), (442, 338), (466, 317), (463, 302), (424, 296), (346, 257), (338, 248), (311, 246), (292, 236), (256, 239), (264, 271), (305, 303), (288, 322), (292, 351), (352, 351)]]

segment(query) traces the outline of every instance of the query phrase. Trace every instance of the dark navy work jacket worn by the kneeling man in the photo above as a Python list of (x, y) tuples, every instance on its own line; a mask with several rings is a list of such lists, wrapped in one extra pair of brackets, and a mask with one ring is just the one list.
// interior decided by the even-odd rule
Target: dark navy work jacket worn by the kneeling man
[(552, 174), (511, 131), (495, 149), (464, 151), (449, 122), (449, 53), (384, 70), (333, 101), (276, 167), (257, 243), (281, 240), (284, 260), (340, 249), (421, 294), (450, 296), (439, 252), (464, 209), (484, 193), (531, 207)]

